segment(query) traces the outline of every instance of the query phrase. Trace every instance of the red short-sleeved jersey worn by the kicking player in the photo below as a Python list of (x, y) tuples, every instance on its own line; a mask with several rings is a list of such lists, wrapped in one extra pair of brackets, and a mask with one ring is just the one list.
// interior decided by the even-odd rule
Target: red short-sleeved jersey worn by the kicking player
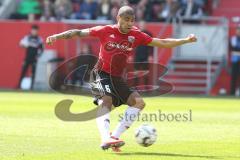
[(147, 45), (153, 39), (137, 27), (132, 27), (130, 32), (123, 34), (116, 24), (93, 27), (90, 36), (99, 38), (101, 43), (96, 67), (113, 76), (122, 76), (134, 48)]

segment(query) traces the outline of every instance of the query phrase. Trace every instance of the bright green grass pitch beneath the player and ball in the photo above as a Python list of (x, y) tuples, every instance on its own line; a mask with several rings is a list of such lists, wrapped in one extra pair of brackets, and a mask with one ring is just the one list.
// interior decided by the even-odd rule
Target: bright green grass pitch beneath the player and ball
[[(221, 98), (145, 98), (142, 113), (186, 113), (192, 122), (138, 121), (122, 135), (122, 153), (102, 151), (95, 120), (64, 122), (54, 114), (57, 102), (73, 99), (72, 112), (95, 106), (91, 97), (46, 93), (0, 92), (1, 160), (240, 159), (240, 100)], [(111, 128), (122, 106), (111, 113)], [(148, 148), (136, 144), (135, 129), (149, 123), (158, 140)]]

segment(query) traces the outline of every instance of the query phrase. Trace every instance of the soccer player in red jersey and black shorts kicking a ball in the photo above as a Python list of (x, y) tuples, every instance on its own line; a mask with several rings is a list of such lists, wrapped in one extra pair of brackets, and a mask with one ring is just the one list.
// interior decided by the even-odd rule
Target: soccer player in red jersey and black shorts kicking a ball
[[(88, 29), (72, 29), (47, 37), (46, 43), (52, 44), (58, 39), (69, 39), (72, 37), (93, 36), (101, 42), (99, 59), (91, 77), (95, 80), (92, 90), (95, 93), (95, 104), (99, 106), (99, 115), (96, 121), (101, 135), (102, 149), (119, 148), (125, 143), (119, 139), (134, 122), (137, 115), (145, 107), (142, 97), (137, 91), (132, 91), (121, 78), (126, 68), (127, 58), (131, 55), (133, 48), (139, 45), (155, 46), (161, 48), (172, 48), (186, 43), (196, 42), (197, 38), (190, 34), (182, 39), (159, 39), (153, 38), (134, 27), (134, 10), (129, 6), (119, 9), (117, 24), (96, 26)], [(96, 89), (98, 92), (95, 92)], [(125, 116), (119, 122), (116, 129), (110, 134), (109, 112), (112, 105), (115, 107), (127, 104)], [(104, 114), (103, 114), (104, 113)]]

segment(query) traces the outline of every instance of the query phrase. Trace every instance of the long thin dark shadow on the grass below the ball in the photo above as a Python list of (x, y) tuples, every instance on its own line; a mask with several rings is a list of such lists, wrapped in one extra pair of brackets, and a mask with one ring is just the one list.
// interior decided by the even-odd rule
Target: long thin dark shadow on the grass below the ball
[(190, 154), (177, 154), (177, 153), (156, 153), (156, 152), (121, 152), (121, 156), (138, 155), (138, 156), (160, 156), (160, 157), (186, 157), (186, 158), (208, 158), (208, 159), (222, 159), (223, 157), (217, 156), (204, 156), (204, 155), (190, 155)]

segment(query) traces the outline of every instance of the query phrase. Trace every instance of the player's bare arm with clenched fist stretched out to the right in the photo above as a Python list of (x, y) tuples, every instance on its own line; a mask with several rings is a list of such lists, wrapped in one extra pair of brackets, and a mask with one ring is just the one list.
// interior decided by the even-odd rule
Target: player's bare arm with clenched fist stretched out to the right
[(153, 38), (152, 42), (148, 44), (148, 46), (161, 47), (161, 48), (172, 48), (179, 45), (183, 45), (186, 43), (196, 42), (197, 38), (194, 34), (188, 35), (186, 38), (174, 39), (174, 38), (166, 38), (159, 39)]

